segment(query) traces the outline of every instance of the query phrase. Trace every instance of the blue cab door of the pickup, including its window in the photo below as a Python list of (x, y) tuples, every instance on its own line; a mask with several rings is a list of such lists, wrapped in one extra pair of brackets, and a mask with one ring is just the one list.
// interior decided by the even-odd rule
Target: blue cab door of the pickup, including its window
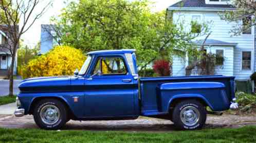
[(124, 58), (98, 57), (93, 66), (90, 75), (94, 76), (85, 80), (88, 89), (84, 100), (85, 117), (134, 115), (134, 87), (137, 85)]

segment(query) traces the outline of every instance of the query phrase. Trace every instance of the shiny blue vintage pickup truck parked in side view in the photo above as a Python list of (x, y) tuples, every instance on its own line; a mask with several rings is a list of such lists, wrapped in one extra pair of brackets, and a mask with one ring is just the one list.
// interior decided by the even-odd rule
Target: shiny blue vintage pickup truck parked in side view
[(209, 113), (238, 108), (234, 84), (234, 77), (226, 76), (139, 78), (135, 50), (96, 51), (87, 53), (74, 76), (22, 81), (14, 114), (32, 114), (40, 128), (49, 130), (69, 120), (139, 116), (170, 120), (179, 129), (193, 130), (202, 128)]

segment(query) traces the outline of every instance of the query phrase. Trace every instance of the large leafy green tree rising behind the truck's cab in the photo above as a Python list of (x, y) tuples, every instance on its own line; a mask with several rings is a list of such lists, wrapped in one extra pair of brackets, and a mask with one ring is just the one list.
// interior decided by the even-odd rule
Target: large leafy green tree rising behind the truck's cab
[(136, 49), (140, 69), (171, 57), (174, 49), (192, 50), (191, 40), (208, 31), (206, 25), (198, 33), (186, 31), (166, 11), (152, 13), (149, 4), (146, 0), (81, 0), (70, 3), (53, 24), (62, 44), (83, 52)]

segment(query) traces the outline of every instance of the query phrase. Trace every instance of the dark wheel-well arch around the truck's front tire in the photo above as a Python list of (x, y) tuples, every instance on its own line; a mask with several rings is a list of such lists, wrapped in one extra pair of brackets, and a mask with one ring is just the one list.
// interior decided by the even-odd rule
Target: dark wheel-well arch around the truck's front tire
[(67, 109), (67, 111), (68, 111), (67, 115), (68, 115), (70, 118), (75, 118), (74, 113), (71, 111), (71, 109), (70, 109), (70, 107), (67, 105), (67, 103), (66, 103), (63, 99), (58, 98), (58, 97), (39, 97), (39, 98), (35, 98), (35, 99), (32, 101), (31, 105), (30, 105), (28, 114), (33, 114), (33, 109), (34, 109), (35, 105), (36, 105), (39, 101), (44, 100), (44, 99), (56, 99), (56, 100), (59, 100), (60, 102), (62, 102), (62, 103), (65, 105), (65, 107), (66, 107), (66, 109)]

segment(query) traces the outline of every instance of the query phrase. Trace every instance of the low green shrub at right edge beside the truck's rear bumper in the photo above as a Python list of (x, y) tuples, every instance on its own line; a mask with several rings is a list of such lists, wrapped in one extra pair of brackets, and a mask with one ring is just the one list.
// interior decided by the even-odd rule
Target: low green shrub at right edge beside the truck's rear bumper
[(237, 103), (239, 110), (246, 113), (256, 112), (256, 95), (247, 94), (245, 92), (236, 92)]

